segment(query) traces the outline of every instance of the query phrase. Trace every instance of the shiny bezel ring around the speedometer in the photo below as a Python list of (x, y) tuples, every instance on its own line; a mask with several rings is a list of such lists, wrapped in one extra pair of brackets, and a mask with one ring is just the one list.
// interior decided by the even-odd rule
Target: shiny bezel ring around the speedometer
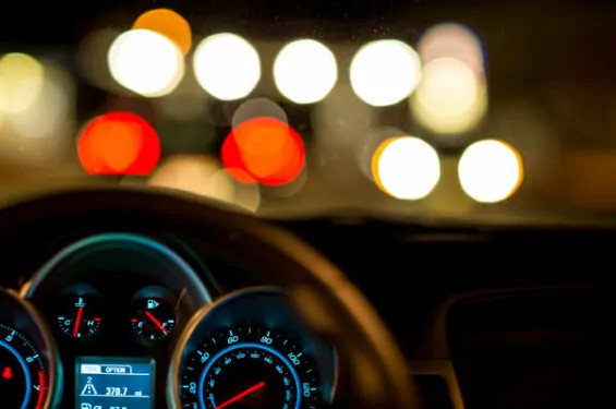
[[(278, 287), (251, 287), (247, 289), (241, 289), (238, 291), (233, 291), (226, 297), (217, 300), (213, 304), (206, 304), (202, 309), (200, 309), (193, 317), (189, 321), (189, 323), (184, 326), (178, 342), (176, 344), (176, 349), (172, 352), (171, 360), (169, 363), (169, 372), (168, 372), (168, 381), (167, 384), (169, 385), (169, 390), (167, 394), (167, 404), (170, 408), (180, 408), (181, 407), (181, 396), (180, 396), (180, 365), (182, 364), (184, 358), (186, 357), (186, 351), (189, 349), (190, 342), (193, 341), (192, 337), (195, 332), (200, 328), (200, 325), (207, 320), (212, 314), (214, 314), (219, 309), (225, 308), (228, 303), (237, 301), (244, 297), (277, 297), (279, 301), (285, 300), (290, 309), (289, 312), (292, 311), (292, 305), (288, 301), (289, 294), (281, 288)], [(293, 311), (294, 314), (294, 311)], [(300, 320), (299, 316), (297, 316)], [(301, 321), (301, 320), (300, 320)], [(235, 323), (235, 325), (242, 325), (246, 323)], [(305, 324), (302, 322), (297, 323), (299, 326), (304, 326)], [(276, 330), (276, 328), (273, 328)], [(307, 327), (304, 327), (304, 332), (310, 332)], [(197, 342), (198, 344), (198, 342)], [(328, 383), (329, 392), (326, 393), (324, 396), (326, 404), (331, 404), (334, 400), (334, 396), (336, 394), (336, 388), (338, 385), (338, 354), (337, 350), (331, 346), (331, 376), (330, 382)]]

